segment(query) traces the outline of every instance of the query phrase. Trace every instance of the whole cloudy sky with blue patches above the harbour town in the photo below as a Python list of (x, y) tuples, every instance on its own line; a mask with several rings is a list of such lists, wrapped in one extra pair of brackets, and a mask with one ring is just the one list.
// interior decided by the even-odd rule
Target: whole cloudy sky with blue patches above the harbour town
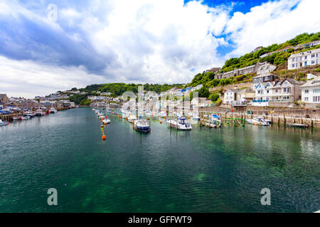
[(188, 83), (257, 46), (320, 31), (319, 0), (0, 0), (0, 94)]

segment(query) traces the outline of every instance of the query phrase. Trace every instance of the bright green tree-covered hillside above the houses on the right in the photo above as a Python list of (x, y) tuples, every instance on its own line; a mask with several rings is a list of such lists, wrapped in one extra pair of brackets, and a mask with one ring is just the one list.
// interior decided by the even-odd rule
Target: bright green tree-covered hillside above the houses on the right
[[(277, 65), (277, 67), (279, 68), (284, 68), (284, 65), (287, 62), (288, 57), (291, 55), (292, 52), (294, 52), (294, 48), (290, 48), (291, 46), (294, 47), (295, 45), (308, 43), (314, 40), (320, 40), (320, 32), (311, 34), (303, 33), (301, 35), (297, 35), (295, 38), (292, 38), (291, 40), (288, 40), (284, 43), (272, 44), (267, 48), (262, 47), (260, 50), (247, 53), (245, 55), (242, 55), (241, 57), (230, 58), (229, 60), (225, 61), (225, 65), (223, 65), (220, 72), (229, 72), (236, 68), (255, 65), (257, 62), (270, 62), (273, 65)], [(260, 57), (265, 53), (282, 50), (283, 48), (288, 49), (284, 52), (274, 52), (269, 56)], [(312, 48), (309, 48), (309, 50), (315, 48), (320, 48), (320, 45), (316, 45)], [(306, 49), (302, 49), (299, 51), (304, 50)], [(245, 74), (240, 75), (238, 77), (230, 77), (228, 79), (213, 79), (214, 75), (215, 73), (213, 72), (198, 73), (195, 75), (191, 83), (186, 84), (186, 87), (195, 87), (198, 84), (205, 84), (208, 87), (218, 87), (238, 82), (250, 82), (250, 79), (252, 79), (252, 77), (255, 76), (255, 74)], [(302, 76), (301, 79), (303, 79)]]

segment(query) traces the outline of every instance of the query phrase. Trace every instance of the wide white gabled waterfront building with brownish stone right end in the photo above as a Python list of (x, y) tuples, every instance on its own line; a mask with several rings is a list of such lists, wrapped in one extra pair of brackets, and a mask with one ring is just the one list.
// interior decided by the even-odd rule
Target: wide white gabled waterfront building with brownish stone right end
[(284, 79), (275, 82), (260, 82), (255, 87), (253, 106), (289, 106), (301, 99), (302, 82)]

